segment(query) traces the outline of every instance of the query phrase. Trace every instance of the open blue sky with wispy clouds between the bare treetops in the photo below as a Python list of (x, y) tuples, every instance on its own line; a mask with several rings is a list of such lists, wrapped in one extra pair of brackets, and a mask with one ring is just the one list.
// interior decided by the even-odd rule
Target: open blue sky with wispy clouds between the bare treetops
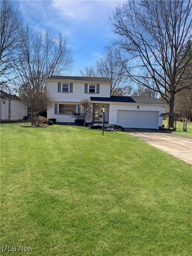
[(34, 30), (67, 34), (74, 59), (71, 75), (102, 57), (114, 38), (109, 15), (122, 1), (12, 1)]

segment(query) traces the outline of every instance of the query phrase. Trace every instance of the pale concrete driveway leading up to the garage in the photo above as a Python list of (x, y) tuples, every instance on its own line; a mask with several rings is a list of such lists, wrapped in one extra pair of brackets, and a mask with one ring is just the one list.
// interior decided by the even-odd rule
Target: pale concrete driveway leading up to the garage
[(125, 128), (125, 131), (186, 163), (192, 164), (192, 138), (155, 129)]

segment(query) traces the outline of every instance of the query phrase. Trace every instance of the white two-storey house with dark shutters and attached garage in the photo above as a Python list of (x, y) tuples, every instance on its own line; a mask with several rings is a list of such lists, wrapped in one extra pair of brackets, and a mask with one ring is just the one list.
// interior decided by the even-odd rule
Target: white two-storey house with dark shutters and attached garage
[(103, 77), (50, 76), (47, 90), (54, 98), (54, 107), (48, 110), (48, 118), (57, 122), (74, 123), (73, 113), (80, 112), (80, 101), (89, 99), (92, 118), (87, 122), (101, 122), (102, 106), (106, 108), (109, 124), (129, 128), (162, 128), (165, 103), (157, 98), (110, 96), (111, 80)]

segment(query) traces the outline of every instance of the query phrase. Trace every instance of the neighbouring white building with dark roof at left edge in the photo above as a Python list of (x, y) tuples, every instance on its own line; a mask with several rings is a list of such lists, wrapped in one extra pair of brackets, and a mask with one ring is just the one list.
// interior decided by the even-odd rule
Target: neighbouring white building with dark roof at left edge
[(27, 107), (21, 103), (16, 95), (0, 90), (2, 121), (20, 120), (27, 116)]

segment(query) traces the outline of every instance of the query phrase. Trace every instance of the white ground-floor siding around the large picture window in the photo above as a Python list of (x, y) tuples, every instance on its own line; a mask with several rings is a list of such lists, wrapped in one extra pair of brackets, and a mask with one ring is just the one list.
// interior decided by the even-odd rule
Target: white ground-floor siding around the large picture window
[[(80, 102), (64, 102), (64, 101), (54, 101), (54, 104), (80, 104)], [(58, 105), (59, 108), (59, 105)], [(91, 109), (93, 109), (93, 104), (91, 104)], [(59, 113), (59, 112), (58, 112)], [(47, 118), (55, 118), (57, 122), (64, 122), (64, 123), (74, 123), (75, 118), (73, 118), (73, 115), (62, 115), (57, 114), (55, 115), (55, 106), (47, 111)], [(92, 118), (91, 118), (92, 120)], [(87, 120), (87, 122), (91, 122), (91, 120)]]

